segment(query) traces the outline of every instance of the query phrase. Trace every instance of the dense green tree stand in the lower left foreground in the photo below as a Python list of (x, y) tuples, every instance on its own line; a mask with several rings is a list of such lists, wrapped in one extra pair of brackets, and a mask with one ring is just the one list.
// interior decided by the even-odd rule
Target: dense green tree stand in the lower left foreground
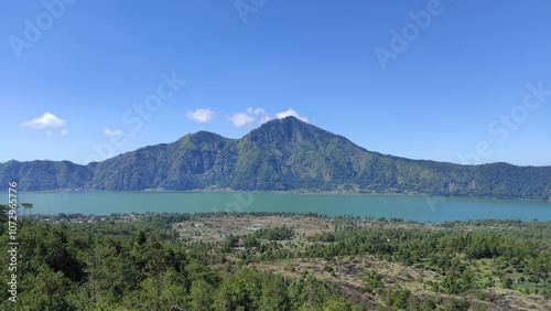
[[(313, 276), (289, 279), (222, 264), (226, 259), (207, 255), (205, 245), (177, 242), (166, 225), (188, 217), (150, 214), (101, 224), (25, 218), (18, 234), (18, 303), (8, 301), (9, 274), (2, 269), (0, 309), (353, 310), (335, 286)], [(7, 235), (0, 245), (6, 254)], [(7, 264), (2, 256), (0, 265)]]

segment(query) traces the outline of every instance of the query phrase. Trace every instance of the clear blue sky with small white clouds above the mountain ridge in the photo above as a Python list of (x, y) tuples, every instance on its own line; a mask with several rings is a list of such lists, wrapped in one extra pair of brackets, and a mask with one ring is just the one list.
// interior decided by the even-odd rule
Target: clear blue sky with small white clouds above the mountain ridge
[(551, 165), (549, 1), (22, 2), (0, 3), (0, 162), (296, 115), (387, 154)]

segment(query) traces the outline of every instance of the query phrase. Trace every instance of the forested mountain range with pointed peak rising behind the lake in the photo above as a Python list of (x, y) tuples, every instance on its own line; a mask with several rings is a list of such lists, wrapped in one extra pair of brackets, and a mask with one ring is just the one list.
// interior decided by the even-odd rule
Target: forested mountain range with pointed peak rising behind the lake
[(199, 131), (79, 165), (0, 163), (0, 187), (20, 190), (244, 190), (420, 193), (551, 200), (551, 167), (460, 165), (371, 152), (294, 117), (241, 139)]

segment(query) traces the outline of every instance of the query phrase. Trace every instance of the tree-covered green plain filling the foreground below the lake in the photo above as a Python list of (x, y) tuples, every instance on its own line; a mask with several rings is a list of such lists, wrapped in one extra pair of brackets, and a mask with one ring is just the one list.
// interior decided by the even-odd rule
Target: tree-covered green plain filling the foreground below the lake
[[(496, 305), (545, 310), (551, 305), (550, 222), (434, 225), (293, 213), (114, 214), (102, 222), (74, 221), (80, 216), (20, 217), (13, 302), (8, 285), (10, 235), (2, 213), (1, 310), (170, 310), (174, 305), (184, 310), (486, 310)], [(177, 230), (185, 224), (198, 228), (205, 219), (258, 216), (320, 224), (322, 229), (301, 234), (300, 227), (271, 226), (220, 234), (215, 242), (183, 237)], [(393, 276), (392, 269), (400, 272)]]

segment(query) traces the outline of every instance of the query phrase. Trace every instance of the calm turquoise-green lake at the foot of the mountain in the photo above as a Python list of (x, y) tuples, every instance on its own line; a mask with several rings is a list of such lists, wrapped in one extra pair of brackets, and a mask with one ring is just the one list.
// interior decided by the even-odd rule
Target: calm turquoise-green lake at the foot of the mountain
[(551, 202), (423, 195), (293, 194), (272, 192), (19, 192), (28, 214), (145, 212), (315, 212), (441, 223), (511, 218), (551, 221)]

